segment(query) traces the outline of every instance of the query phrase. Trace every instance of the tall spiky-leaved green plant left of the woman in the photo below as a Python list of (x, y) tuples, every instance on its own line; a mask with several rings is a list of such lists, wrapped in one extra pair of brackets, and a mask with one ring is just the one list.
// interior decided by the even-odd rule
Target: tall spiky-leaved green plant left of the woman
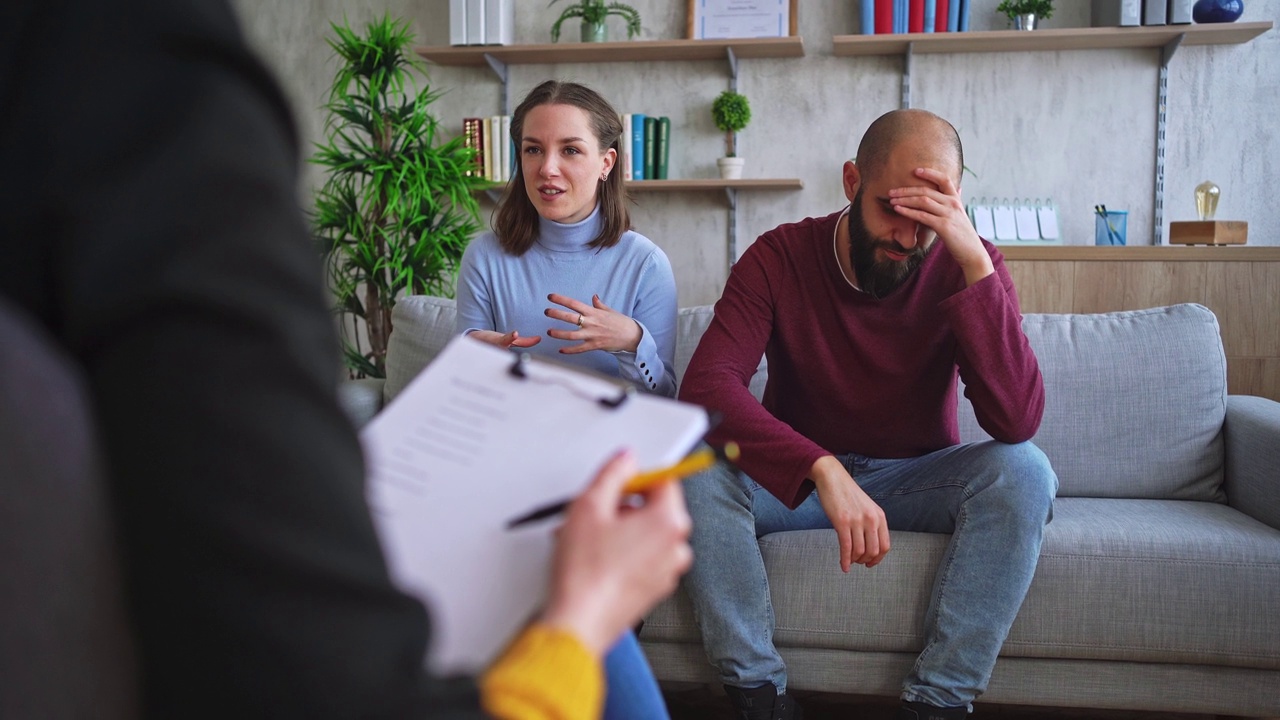
[(351, 377), (378, 378), (396, 300), (453, 295), (462, 251), (483, 227), (474, 191), (489, 183), (468, 176), (475, 150), (462, 137), (442, 137), (430, 113), (440, 94), (417, 91), (412, 70), (425, 70), (408, 23), (384, 17), (364, 35), (330, 27), (339, 68), (311, 158), (328, 170), (311, 220)]

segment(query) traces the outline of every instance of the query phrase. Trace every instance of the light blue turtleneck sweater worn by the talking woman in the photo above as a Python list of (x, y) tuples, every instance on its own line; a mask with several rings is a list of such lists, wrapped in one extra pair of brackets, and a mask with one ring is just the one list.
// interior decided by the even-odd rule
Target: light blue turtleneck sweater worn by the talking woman
[[(538, 240), (518, 258), (503, 251), (493, 232), (472, 240), (458, 272), (457, 332), (520, 331), (521, 337), (541, 336), (543, 341), (530, 352), (675, 397), (677, 302), (671, 261), (662, 249), (632, 231), (623, 233), (613, 247), (588, 247), (602, 225), (599, 205), (575, 224), (539, 219)], [(547, 300), (552, 292), (586, 305), (591, 305), (593, 295), (599, 295), (605, 305), (640, 324), (639, 347), (635, 352), (561, 354), (559, 348), (576, 343), (556, 340), (547, 331), (575, 328), (543, 314), (548, 307), (564, 309)]]

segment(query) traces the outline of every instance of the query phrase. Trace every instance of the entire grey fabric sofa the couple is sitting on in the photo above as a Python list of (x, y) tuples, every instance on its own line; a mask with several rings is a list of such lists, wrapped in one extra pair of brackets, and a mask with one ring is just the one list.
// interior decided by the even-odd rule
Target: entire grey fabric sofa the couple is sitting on
[[(712, 318), (681, 310), (677, 378)], [(367, 418), (452, 334), (452, 302), (396, 309), (388, 379), (351, 383)], [(1176, 305), (1027, 315), (1044, 374), (1033, 442), (1060, 479), (1036, 579), (979, 702), (1280, 715), (1280, 404), (1226, 393), (1213, 314)], [(753, 379), (759, 396), (767, 368)], [(960, 402), (965, 441), (983, 439)], [(897, 696), (948, 536), (893, 533), (838, 568), (828, 530), (760, 539), (790, 687)], [(718, 684), (682, 594), (648, 618), (658, 678)]]

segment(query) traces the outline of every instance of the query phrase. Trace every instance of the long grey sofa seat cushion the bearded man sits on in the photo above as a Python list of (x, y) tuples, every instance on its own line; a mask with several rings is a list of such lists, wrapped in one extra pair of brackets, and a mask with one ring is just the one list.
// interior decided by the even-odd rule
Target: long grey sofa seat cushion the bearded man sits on
[[(840, 571), (832, 530), (760, 538), (780, 647), (909, 652), (951, 536), (893, 532), (874, 569)], [(1059, 498), (1005, 657), (1280, 669), (1280, 530), (1225, 505)], [(699, 642), (684, 593), (648, 643)]]

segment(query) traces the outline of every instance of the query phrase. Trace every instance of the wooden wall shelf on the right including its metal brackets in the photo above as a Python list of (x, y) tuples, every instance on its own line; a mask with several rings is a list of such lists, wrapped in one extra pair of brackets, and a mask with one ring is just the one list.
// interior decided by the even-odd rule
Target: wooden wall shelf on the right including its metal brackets
[(1183, 45), (1240, 45), (1271, 31), (1270, 20), (1251, 23), (1080, 27), (1037, 31), (913, 32), (900, 35), (837, 35), (832, 55), (902, 55), (902, 108), (911, 106), (911, 58), (943, 53), (1053, 53), (1074, 50), (1153, 49), (1160, 51), (1156, 82), (1155, 199), (1152, 243), (1161, 245), (1165, 217), (1165, 109), (1169, 106), (1169, 61)]

